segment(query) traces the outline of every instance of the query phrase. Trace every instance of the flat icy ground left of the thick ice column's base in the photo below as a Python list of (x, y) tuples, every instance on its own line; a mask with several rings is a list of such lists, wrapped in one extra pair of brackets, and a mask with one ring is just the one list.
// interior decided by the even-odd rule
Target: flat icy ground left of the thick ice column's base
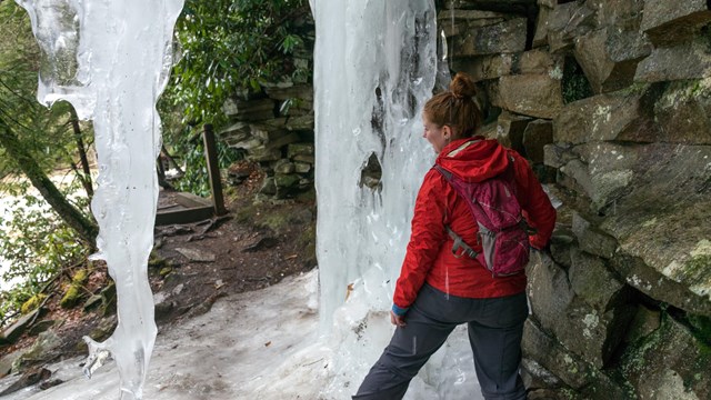
[[(218, 300), (203, 316), (160, 333), (144, 386), (144, 399), (318, 399), (328, 363), (317, 342), (317, 271), (271, 288)], [(310, 348), (308, 353), (304, 349)], [(64, 383), (2, 399), (119, 399), (116, 363), (91, 380), (83, 359), (51, 366)], [(284, 364), (287, 369), (279, 368)], [(0, 390), (12, 379), (0, 382)]]

